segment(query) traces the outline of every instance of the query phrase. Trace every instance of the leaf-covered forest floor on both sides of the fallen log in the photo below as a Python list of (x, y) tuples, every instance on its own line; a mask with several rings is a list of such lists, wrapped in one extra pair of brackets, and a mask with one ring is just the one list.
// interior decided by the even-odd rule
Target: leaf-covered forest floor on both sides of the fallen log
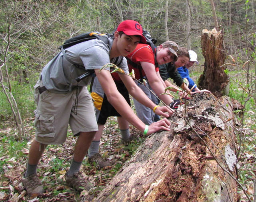
[[(250, 115), (246, 117), (243, 126), (246, 141), (242, 142), (242, 152), (239, 156), (240, 168), (237, 173), (239, 182), (253, 201), (256, 175), (256, 127), (252, 126), (256, 123), (255, 111), (248, 111), (248, 113)], [(3, 118), (1, 117), (4, 127), (0, 129), (0, 201), (92, 201), (146, 139), (140, 131), (130, 126), (130, 133), (136, 138), (129, 144), (121, 143), (116, 118), (108, 118), (100, 143), (100, 154), (107, 158), (112, 166), (99, 169), (97, 165), (90, 164), (88, 157), (85, 157), (80, 171), (94, 185), (94, 188), (90, 192), (78, 193), (66, 186), (64, 179), (72, 161), (76, 142), (76, 137), (74, 138), (71, 130), (68, 129), (67, 140), (63, 145), (46, 147), (38, 164), (38, 176), (42, 180), (45, 192), (41, 196), (30, 198), (21, 179), (26, 170), (30, 144), (34, 139), (34, 118), (24, 120), (26, 137), (22, 138), (18, 137), (11, 119), (3, 120)], [(248, 201), (239, 187), (238, 193), (240, 202)]]

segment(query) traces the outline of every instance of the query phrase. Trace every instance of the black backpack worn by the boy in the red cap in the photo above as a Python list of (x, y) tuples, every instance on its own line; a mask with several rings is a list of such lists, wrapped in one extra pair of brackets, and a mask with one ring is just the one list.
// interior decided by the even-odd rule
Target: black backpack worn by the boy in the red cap
[[(66, 40), (64, 42), (64, 44), (62, 44), (59, 49), (62, 51), (63, 53), (63, 56), (65, 57), (66, 60), (68, 60), (70, 63), (73, 63), (72, 61), (70, 61), (70, 59), (68, 59), (68, 57), (66, 56), (66, 53), (65, 53), (65, 49), (68, 48), (68, 47), (71, 47), (71, 46), (74, 46), (76, 44), (79, 44), (81, 42), (85, 42), (85, 41), (88, 41), (88, 40), (92, 40), (92, 39), (99, 39), (101, 40), (102, 42), (104, 42), (108, 47), (109, 47), (109, 41), (108, 41), (108, 38), (111, 38), (112, 35), (111, 34), (101, 34), (99, 32), (86, 32), (84, 34), (80, 34), (78, 36), (75, 36), (73, 38), (70, 38), (68, 40)], [(116, 57), (114, 59), (114, 61), (112, 61), (112, 63), (114, 63), (116, 66), (120, 65), (122, 63), (122, 60), (123, 60), (123, 57), (120, 56), (120, 57)], [(76, 81), (79, 82), (81, 81), (82, 79), (90, 76), (90, 75), (93, 75), (94, 74), (94, 70), (87, 70), (86, 73), (80, 75), (79, 77), (76, 78)]]

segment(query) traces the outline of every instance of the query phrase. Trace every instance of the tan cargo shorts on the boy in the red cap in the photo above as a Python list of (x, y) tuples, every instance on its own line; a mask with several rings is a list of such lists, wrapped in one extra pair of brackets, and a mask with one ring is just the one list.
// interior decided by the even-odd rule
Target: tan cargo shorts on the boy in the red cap
[(40, 94), (38, 87), (42, 86), (42, 80), (34, 86), (37, 104), (36, 141), (46, 145), (64, 143), (68, 124), (74, 135), (98, 131), (94, 105), (87, 87), (79, 87), (68, 93), (52, 93), (46, 90)]

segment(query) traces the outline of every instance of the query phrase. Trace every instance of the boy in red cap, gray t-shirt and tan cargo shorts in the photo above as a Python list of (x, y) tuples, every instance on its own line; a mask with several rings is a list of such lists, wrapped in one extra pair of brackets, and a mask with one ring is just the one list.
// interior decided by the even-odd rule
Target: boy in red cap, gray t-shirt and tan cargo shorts
[[(27, 170), (22, 178), (29, 195), (36, 196), (44, 192), (42, 183), (36, 175), (37, 164), (46, 145), (65, 142), (68, 124), (78, 139), (70, 169), (65, 175), (66, 183), (78, 191), (92, 187), (79, 172), (82, 160), (98, 131), (92, 97), (86, 87), (90, 83), (90, 77), (80, 82), (76, 81), (76, 78), (86, 73), (86, 70), (94, 70), (108, 101), (118, 113), (140, 131), (149, 135), (160, 129), (170, 130), (170, 123), (167, 119), (162, 119), (149, 127), (142, 123), (124, 97), (117, 91), (110, 69), (100, 71), (102, 66), (116, 57), (128, 55), (140, 41), (146, 42), (142, 36), (142, 27), (136, 21), (126, 20), (120, 24), (118, 30), (113, 38), (109, 38), (109, 46), (98, 39), (80, 42), (66, 48), (64, 53), (58, 53), (43, 68), (40, 80), (34, 87), (37, 103), (36, 139), (31, 143)], [(120, 35), (119, 32), (124, 32), (124, 34)], [(120, 68), (128, 73), (125, 59)], [(122, 78), (126, 84), (133, 82), (127, 75), (122, 75)], [(153, 109), (156, 105), (145, 97), (146, 95), (141, 99)], [(167, 108), (158, 107), (157, 110), (160, 115), (168, 117), (164, 113), (170, 111)]]

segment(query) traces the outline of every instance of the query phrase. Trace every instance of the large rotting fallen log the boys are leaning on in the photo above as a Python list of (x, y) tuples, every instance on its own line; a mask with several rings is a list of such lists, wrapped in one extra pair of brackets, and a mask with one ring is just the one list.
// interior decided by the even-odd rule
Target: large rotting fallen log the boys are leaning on
[(179, 125), (148, 137), (94, 201), (236, 202), (231, 101), (197, 93), (180, 108), (190, 125), (174, 115)]

